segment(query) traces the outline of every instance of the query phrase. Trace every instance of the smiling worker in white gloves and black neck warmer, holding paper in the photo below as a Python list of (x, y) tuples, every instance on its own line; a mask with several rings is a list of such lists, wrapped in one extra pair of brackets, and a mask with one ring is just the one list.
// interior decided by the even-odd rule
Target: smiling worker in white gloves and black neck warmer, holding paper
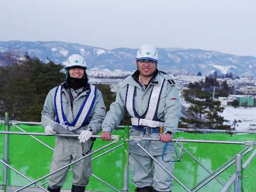
[[(91, 136), (101, 131), (106, 116), (106, 107), (101, 91), (88, 83), (86, 62), (81, 55), (74, 54), (67, 59), (66, 81), (48, 93), (42, 110), (42, 126), (45, 133), (56, 134), (49, 120), (60, 123), (78, 138), (57, 137), (50, 172), (83, 157), (93, 145)], [(49, 178), (48, 191), (58, 192), (65, 182), (69, 167)], [(71, 191), (83, 192), (91, 175), (91, 157), (73, 165)]]

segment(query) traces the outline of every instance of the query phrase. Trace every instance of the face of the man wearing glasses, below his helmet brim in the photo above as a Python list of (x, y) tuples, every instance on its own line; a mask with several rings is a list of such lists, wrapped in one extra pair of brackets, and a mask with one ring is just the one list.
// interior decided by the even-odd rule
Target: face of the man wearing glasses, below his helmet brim
[(138, 65), (139, 73), (145, 77), (151, 77), (157, 69), (157, 62), (149, 59), (137, 60), (136, 63)]

